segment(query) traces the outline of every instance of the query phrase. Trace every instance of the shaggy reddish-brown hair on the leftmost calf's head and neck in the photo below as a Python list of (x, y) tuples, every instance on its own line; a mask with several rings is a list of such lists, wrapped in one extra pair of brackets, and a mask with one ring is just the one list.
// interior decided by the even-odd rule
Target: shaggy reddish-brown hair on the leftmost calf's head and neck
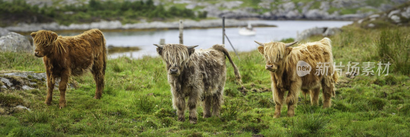
[(61, 40), (61, 36), (58, 36), (57, 39), (53, 42), (51, 34), (46, 33), (37, 33), (34, 38), (33, 42), (36, 48), (44, 51), (44, 46), (53, 46), (57, 48), (58, 52), (63, 53), (66, 52), (66, 49), (63, 45), (66, 45), (66, 42)]

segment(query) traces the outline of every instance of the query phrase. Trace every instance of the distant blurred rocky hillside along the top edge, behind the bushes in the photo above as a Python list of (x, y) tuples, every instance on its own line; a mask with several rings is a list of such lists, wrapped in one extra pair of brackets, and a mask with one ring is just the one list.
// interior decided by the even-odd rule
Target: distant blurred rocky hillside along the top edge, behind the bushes
[[(11, 1), (11, 0), (7, 0)], [(135, 0), (126, 0), (135, 1)], [(28, 0), (30, 5), (39, 7), (65, 5), (84, 5), (89, 0)], [(237, 0), (237, 1), (187, 1), (187, 0), (154, 0), (154, 5), (178, 5), (195, 11), (207, 11), (208, 17), (227, 18), (260, 18), (260, 19), (335, 19), (353, 20), (367, 15), (389, 10), (406, 0), (330, 0), (330, 1), (297, 1), (297, 0)]]

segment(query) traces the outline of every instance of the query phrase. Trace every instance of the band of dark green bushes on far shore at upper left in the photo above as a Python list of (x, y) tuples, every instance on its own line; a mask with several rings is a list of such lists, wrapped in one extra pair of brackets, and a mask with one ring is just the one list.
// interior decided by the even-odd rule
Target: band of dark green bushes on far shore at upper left
[(194, 11), (185, 7), (172, 6), (166, 9), (163, 5), (155, 6), (152, 0), (148, 1), (95, 1), (87, 5), (66, 5), (62, 7), (30, 6), (22, 0), (12, 2), (0, 1), (0, 26), (13, 25), (19, 22), (47, 23), (55, 21), (59, 24), (89, 23), (101, 20), (119, 20), (122, 23), (136, 23), (140, 19), (163, 21), (169, 18), (206, 18), (206, 12), (196, 16)]

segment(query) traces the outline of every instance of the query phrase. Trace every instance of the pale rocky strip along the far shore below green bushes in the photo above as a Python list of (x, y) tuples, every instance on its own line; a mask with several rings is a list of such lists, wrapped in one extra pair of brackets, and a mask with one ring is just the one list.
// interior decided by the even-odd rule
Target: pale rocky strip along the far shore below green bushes
[[(236, 19), (226, 19), (225, 27), (238, 27), (246, 26), (246, 21), (240, 21)], [(253, 23), (254, 27), (276, 27), (275, 25), (268, 25), (263, 23)], [(217, 28), (222, 27), (222, 19), (207, 19), (201, 21), (193, 21), (185, 19), (183, 22), (184, 28)], [(146, 29), (178, 29), (179, 21), (174, 22), (141, 22), (135, 24), (121, 24), (120, 21), (100, 21), (86, 24), (71, 24), (71, 25), (59, 25), (57, 23), (40, 23), (40, 24), (26, 24), (19, 23), (16, 26), (5, 27), (5, 29), (13, 32), (32, 32), (38, 30), (89, 30), (98, 28), (101, 30), (146, 30)]]

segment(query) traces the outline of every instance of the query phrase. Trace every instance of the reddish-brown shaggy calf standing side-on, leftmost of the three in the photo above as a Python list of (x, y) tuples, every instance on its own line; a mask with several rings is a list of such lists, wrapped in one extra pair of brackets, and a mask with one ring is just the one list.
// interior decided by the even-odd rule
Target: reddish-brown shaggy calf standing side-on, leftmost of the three
[(106, 70), (106, 40), (103, 32), (92, 29), (76, 36), (58, 36), (55, 32), (39, 30), (31, 33), (35, 45), (34, 55), (43, 57), (47, 73), (47, 97), (51, 105), (54, 83), (60, 78), (60, 109), (66, 107), (66, 88), (70, 75), (81, 75), (88, 70), (94, 75), (94, 99), (100, 99)]

